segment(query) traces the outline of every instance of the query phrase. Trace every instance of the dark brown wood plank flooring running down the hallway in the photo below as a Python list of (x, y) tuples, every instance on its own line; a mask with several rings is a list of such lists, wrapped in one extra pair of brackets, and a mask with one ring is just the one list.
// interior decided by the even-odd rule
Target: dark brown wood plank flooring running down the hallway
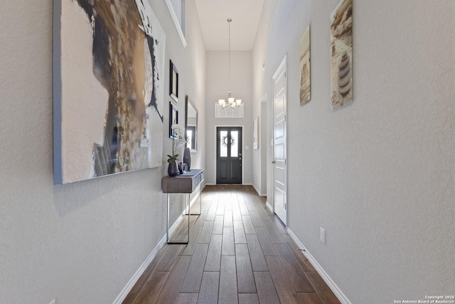
[(124, 304), (340, 303), (255, 189), (207, 186), (201, 209), (190, 243), (164, 245)]

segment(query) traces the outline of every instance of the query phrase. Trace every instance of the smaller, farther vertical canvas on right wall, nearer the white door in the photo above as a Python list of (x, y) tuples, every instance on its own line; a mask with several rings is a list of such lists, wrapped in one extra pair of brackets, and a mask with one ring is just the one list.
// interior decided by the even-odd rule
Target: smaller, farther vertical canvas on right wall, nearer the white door
[(310, 78), (310, 26), (300, 37), (300, 105), (305, 105), (311, 100)]

